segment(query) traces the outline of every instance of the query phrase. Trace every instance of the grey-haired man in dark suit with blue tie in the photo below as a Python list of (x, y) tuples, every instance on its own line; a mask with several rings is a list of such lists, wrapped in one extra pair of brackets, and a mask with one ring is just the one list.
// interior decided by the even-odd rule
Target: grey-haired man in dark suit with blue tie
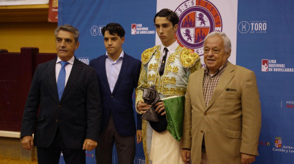
[(74, 57), (78, 37), (79, 31), (71, 25), (56, 28), (57, 57), (38, 65), (30, 87), (21, 124), (21, 143), (26, 150), (37, 146), (41, 164), (59, 163), (60, 152), (66, 163), (86, 163), (85, 150), (91, 151), (98, 144), (98, 80), (93, 68)]

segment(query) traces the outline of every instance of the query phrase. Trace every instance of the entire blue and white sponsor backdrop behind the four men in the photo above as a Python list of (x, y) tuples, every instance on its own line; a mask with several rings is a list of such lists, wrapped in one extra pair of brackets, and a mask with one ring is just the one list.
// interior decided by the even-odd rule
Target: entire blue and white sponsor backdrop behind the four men
[[(140, 59), (145, 49), (160, 44), (153, 20), (163, 8), (178, 14), (175, 37), (180, 45), (199, 53), (201, 63), (207, 34), (226, 32), (232, 41), (229, 61), (253, 70), (257, 76), (262, 126), (255, 163), (294, 163), (293, 6), (292, 0), (59, 0), (58, 25), (68, 23), (80, 30), (75, 56), (86, 64), (105, 54), (101, 30), (111, 22), (125, 28), (123, 50)], [(95, 163), (94, 151), (86, 152), (86, 161)], [(63, 159), (59, 163), (64, 163)], [(146, 163), (142, 143), (136, 144), (134, 163)]]

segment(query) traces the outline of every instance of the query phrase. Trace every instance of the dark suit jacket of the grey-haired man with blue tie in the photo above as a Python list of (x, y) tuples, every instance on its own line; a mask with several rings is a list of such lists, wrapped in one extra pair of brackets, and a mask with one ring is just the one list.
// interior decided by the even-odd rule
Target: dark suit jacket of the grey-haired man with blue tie
[[(68, 149), (81, 149), (84, 139), (98, 141), (100, 94), (95, 70), (75, 59), (61, 100), (55, 77), (56, 59), (38, 65), (21, 124), (21, 138), (33, 134), (37, 147), (52, 143), (57, 127)], [(37, 116), (38, 107), (39, 115)]]

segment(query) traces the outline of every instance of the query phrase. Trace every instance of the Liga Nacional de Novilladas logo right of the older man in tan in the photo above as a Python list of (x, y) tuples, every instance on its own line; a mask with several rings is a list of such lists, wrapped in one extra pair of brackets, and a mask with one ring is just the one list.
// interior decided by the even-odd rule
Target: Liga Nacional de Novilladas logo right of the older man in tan
[(275, 59), (261, 59), (261, 72), (294, 72), (294, 68), (286, 68), (284, 63)]

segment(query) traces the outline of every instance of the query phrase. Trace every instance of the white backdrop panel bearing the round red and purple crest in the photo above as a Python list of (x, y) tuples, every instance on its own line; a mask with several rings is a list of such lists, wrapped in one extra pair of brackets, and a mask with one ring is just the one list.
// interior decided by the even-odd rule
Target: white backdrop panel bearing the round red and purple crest
[[(236, 63), (237, 42), (237, 3), (236, 0), (190, 0), (157, 1), (156, 10), (174, 10), (179, 17), (176, 38), (178, 43), (197, 52), (203, 62), (203, 39), (210, 32), (226, 32), (232, 41), (232, 54), (229, 61)], [(156, 45), (160, 39), (156, 35)]]

